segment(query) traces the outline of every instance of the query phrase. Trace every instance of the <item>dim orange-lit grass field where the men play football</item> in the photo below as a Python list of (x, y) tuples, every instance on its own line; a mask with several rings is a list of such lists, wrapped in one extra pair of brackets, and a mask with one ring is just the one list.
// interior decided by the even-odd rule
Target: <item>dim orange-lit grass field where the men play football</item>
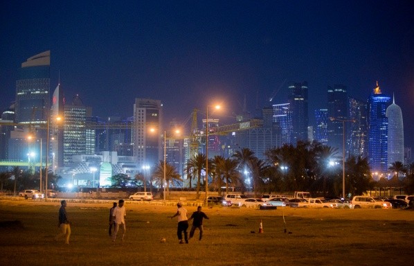
[[(203, 208), (210, 218), (203, 240), (196, 231), (179, 245), (177, 219), (168, 218), (174, 206), (125, 206), (125, 242), (114, 244), (111, 204), (69, 202), (65, 245), (53, 240), (59, 203), (0, 200), (0, 265), (411, 265), (413, 258), (414, 211)], [(4, 224), (13, 220), (23, 227)]]

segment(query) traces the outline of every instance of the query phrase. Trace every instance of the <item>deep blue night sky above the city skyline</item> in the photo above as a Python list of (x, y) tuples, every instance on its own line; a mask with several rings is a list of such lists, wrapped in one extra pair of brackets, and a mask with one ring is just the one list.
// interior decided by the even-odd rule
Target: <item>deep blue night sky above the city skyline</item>
[[(94, 116), (133, 116), (159, 99), (166, 121), (219, 100), (218, 118), (287, 101), (307, 81), (309, 121), (327, 85), (366, 100), (378, 80), (402, 108), (414, 148), (413, 1), (1, 1), (0, 110), (21, 62), (51, 50), (51, 91)], [(188, 125), (189, 126), (189, 125)]]

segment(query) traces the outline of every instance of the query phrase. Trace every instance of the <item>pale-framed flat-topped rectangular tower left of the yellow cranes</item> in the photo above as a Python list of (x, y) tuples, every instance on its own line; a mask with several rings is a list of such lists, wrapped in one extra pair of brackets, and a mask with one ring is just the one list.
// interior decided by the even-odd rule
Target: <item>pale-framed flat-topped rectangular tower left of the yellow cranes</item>
[(142, 166), (155, 166), (163, 158), (161, 148), (163, 105), (161, 100), (136, 98), (134, 103), (134, 157)]

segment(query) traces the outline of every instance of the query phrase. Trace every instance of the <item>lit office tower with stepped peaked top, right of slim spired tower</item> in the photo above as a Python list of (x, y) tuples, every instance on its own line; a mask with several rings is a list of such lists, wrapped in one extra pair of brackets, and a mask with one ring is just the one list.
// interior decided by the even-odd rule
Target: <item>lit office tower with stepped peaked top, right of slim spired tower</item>
[(87, 154), (87, 130), (85, 125), (88, 116), (91, 116), (91, 108), (83, 104), (79, 95), (73, 98), (71, 104), (64, 105), (64, 166), (71, 166), (73, 155)]

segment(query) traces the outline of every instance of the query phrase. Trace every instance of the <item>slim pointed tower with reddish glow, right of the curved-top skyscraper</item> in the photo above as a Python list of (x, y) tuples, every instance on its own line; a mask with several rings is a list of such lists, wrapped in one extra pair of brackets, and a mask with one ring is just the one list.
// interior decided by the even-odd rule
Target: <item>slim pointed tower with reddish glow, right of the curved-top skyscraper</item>
[(52, 97), (50, 130), (51, 154), (53, 156), (53, 169), (63, 166), (63, 119), (64, 118), (64, 93), (62, 86), (57, 85)]

